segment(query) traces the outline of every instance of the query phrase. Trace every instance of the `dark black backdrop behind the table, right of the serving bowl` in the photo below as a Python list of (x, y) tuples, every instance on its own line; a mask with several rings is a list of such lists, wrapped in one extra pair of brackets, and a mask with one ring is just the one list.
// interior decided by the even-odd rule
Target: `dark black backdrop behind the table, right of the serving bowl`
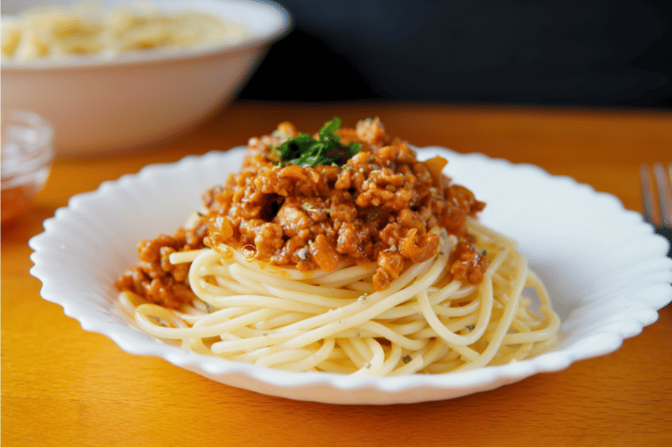
[(241, 98), (672, 106), (670, 0), (278, 3)]

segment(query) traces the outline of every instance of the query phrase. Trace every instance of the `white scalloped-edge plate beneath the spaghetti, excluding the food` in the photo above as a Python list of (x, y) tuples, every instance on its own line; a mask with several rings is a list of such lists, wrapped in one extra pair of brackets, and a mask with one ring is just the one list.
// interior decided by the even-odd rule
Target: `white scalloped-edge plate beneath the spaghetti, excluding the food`
[(150, 165), (73, 197), (30, 241), (31, 273), (44, 299), (124, 351), (157, 356), (212, 380), (259, 393), (337, 404), (390, 404), (458, 398), (538, 372), (611, 353), (653, 323), (672, 299), (667, 241), (612, 195), (533, 165), (512, 165), (444, 148), (446, 172), (487, 201), (482, 221), (520, 242), (562, 318), (557, 346), (531, 360), (477, 371), (395, 378), (270, 370), (169, 346), (135, 328), (115, 307), (114, 281), (136, 261), (136, 243), (172, 233), (205, 189), (241, 164), (242, 148)]

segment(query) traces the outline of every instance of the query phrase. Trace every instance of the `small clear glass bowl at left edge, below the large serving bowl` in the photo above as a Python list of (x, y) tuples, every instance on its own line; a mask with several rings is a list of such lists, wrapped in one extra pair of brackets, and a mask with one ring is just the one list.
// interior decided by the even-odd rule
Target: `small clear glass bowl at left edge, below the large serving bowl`
[(53, 130), (32, 112), (2, 114), (2, 222), (21, 215), (47, 181)]

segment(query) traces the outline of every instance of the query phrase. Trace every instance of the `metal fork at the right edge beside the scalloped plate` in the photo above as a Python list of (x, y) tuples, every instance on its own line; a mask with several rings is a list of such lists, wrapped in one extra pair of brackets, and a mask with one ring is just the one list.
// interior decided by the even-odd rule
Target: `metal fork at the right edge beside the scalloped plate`
[(672, 257), (672, 163), (667, 167), (655, 163), (653, 169), (649, 165), (640, 165), (640, 181), (644, 220), (656, 229), (656, 233), (667, 238), (670, 244), (667, 256)]

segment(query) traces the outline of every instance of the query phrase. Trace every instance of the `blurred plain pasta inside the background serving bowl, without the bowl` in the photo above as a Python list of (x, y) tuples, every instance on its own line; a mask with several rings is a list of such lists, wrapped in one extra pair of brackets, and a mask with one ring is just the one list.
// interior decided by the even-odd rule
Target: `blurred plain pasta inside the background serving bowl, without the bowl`
[(209, 13), (168, 12), (140, 4), (102, 11), (80, 4), (4, 15), (2, 56), (17, 61), (78, 55), (115, 58), (133, 50), (233, 45), (248, 34), (240, 23)]

